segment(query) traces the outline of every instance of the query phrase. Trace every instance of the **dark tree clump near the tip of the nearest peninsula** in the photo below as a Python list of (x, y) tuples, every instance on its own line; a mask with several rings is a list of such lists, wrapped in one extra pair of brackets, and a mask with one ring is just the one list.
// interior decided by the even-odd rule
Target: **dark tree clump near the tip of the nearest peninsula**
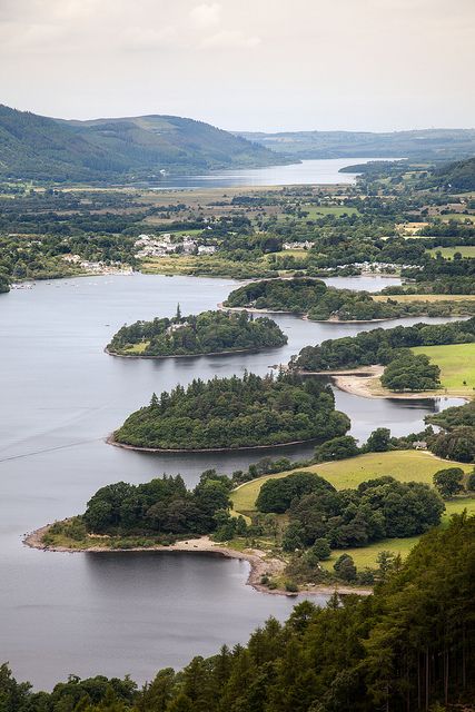
[(229, 482), (206, 472), (191, 492), (180, 475), (101, 487), (88, 502), (83, 522), (96, 534), (208, 534), (218, 512), (229, 508)]

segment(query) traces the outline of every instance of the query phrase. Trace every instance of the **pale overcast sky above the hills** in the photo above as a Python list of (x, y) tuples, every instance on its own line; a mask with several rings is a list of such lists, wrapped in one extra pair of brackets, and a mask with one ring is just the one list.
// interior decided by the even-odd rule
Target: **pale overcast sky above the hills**
[(475, 0), (0, 0), (0, 102), (228, 130), (475, 127)]

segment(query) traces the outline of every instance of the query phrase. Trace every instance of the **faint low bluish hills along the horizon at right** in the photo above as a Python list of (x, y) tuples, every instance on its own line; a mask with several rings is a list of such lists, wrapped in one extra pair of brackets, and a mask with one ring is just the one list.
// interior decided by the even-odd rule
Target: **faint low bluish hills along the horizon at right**
[(278, 154), (305, 158), (410, 158), (455, 160), (475, 154), (475, 129), (424, 129), (372, 134), (365, 131), (238, 131)]

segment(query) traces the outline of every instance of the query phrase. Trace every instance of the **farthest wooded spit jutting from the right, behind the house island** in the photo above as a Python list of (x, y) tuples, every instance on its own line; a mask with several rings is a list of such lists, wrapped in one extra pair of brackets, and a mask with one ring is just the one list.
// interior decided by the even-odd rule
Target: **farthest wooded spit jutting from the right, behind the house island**
[(263, 279), (230, 293), (224, 307), (255, 312), (288, 312), (314, 322), (377, 322), (404, 316), (473, 315), (469, 303), (397, 301), (368, 291), (327, 287), (321, 279)]

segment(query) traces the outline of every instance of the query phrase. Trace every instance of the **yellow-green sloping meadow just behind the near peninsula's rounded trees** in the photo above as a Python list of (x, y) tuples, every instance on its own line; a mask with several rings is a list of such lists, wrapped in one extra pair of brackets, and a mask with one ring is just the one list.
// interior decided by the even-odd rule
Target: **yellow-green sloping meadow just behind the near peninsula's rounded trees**
[[(445, 459), (435, 457), (424, 451), (394, 451), (389, 453), (367, 453), (348, 459), (340, 459), (321, 465), (304, 467), (307, 472), (315, 472), (328, 479), (337, 490), (357, 487), (360, 482), (380, 477), (382, 475), (393, 475), (400, 482), (425, 482), (432, 484), (434, 473), (452, 465), (463, 467), (466, 472), (472, 471), (471, 465), (459, 465), (459, 463), (448, 463)], [(285, 477), (290, 473), (277, 473), (266, 475), (258, 479), (253, 479), (241, 485), (231, 493), (232, 508), (236, 512), (255, 512), (256, 498), (263, 484), (271, 477)]]

